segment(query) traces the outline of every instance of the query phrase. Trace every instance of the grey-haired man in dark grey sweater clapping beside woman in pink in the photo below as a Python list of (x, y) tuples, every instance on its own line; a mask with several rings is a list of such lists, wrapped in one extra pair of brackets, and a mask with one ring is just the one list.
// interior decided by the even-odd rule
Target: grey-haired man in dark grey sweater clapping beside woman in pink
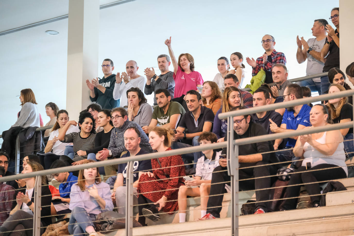
[[(149, 95), (154, 92), (154, 95), (156, 95), (156, 90), (159, 88), (165, 88), (170, 92), (171, 99), (173, 99), (175, 93), (175, 80), (173, 79), (173, 72), (169, 70), (169, 66), (171, 65), (170, 57), (166, 54), (161, 54), (157, 57), (157, 64), (161, 71), (159, 76), (155, 74), (154, 68), (145, 69), (147, 80), (144, 93)], [(155, 96), (154, 105), (157, 105)]]

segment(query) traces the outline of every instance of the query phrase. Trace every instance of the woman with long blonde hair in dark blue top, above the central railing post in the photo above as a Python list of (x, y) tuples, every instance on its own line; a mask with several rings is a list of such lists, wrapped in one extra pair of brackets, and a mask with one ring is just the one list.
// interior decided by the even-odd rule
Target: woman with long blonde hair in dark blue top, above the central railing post
[(213, 133), (218, 137), (218, 142), (224, 141), (227, 132), (227, 121), (220, 120), (218, 115), (220, 113), (228, 112), (234, 107), (243, 105), (241, 92), (238, 88), (233, 86), (225, 88), (222, 98), (222, 107), (215, 114), (213, 124)]

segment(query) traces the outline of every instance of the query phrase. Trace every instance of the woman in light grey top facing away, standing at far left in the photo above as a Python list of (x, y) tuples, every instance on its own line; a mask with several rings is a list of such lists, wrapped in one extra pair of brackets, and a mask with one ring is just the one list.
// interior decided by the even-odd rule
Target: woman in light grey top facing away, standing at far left
[(22, 108), (17, 118), (17, 121), (11, 127), (40, 127), (37, 102), (32, 89), (25, 88), (21, 90), (19, 98)]

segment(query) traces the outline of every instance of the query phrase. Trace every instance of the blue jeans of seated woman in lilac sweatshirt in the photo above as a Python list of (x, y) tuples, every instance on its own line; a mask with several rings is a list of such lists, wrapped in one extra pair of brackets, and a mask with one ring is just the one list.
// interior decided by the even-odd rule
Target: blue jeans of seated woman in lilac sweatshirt
[[(86, 227), (93, 226), (92, 221), (96, 220), (96, 215), (89, 214), (82, 207), (75, 207), (70, 215), (68, 230), (70, 234), (82, 235), (86, 234)], [(93, 226), (95, 228), (95, 226)]]

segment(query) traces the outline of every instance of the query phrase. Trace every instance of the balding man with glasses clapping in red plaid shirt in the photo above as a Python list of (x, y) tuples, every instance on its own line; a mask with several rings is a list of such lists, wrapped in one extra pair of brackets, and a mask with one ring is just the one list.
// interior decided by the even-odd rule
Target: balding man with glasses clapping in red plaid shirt
[(275, 39), (272, 35), (264, 35), (261, 43), (265, 50), (263, 56), (258, 57), (257, 60), (246, 57), (246, 62), (252, 67), (252, 76), (257, 75), (263, 69), (265, 71), (265, 83), (270, 84), (273, 83), (272, 65), (277, 63), (285, 65), (286, 58), (284, 53), (275, 51)]

